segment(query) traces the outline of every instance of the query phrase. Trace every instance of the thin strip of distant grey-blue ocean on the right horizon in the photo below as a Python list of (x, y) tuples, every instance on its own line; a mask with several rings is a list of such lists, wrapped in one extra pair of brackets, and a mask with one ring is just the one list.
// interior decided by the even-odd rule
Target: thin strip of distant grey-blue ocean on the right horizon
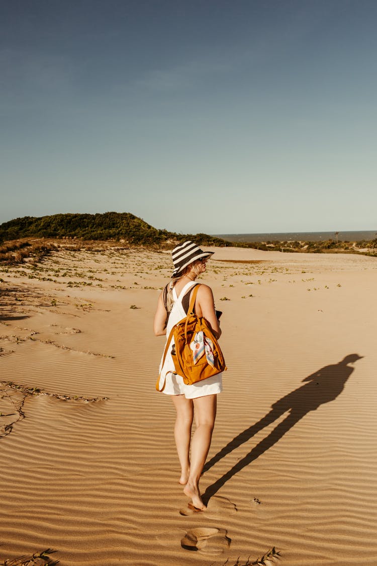
[[(361, 242), (376, 238), (377, 230), (339, 232), (339, 242)], [(322, 242), (336, 240), (335, 232), (272, 232), (265, 234), (213, 234), (229, 242)]]

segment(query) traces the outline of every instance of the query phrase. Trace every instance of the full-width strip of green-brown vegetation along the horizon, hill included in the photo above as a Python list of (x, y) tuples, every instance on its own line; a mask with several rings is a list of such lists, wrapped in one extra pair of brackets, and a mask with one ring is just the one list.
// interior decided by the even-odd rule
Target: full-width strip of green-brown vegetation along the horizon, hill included
[[(27, 238), (50, 239), (50, 242), (29, 243), (25, 241)], [(129, 212), (106, 212), (94, 215), (24, 216), (4, 222), (0, 225), (0, 242), (5, 242), (0, 246), (0, 262), (23, 263), (25, 259), (31, 258), (37, 263), (57, 247), (76, 251), (81, 247), (88, 248), (90, 244), (92, 251), (100, 251), (105, 242), (108, 242), (107, 246), (110, 242), (117, 242), (122, 246), (146, 246), (161, 250), (171, 249), (186, 240), (193, 240), (200, 246), (233, 246), (311, 254), (347, 252), (377, 256), (377, 238), (371, 241), (342, 242), (336, 234), (336, 240), (328, 239), (324, 242), (229, 242), (209, 234), (177, 234), (159, 230)]]

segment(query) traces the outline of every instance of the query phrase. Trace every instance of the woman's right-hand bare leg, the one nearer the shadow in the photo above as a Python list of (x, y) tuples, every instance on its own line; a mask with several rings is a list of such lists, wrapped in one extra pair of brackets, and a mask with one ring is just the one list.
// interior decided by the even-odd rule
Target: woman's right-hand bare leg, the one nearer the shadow
[(206, 395), (193, 399), (196, 431), (191, 441), (191, 465), (184, 493), (192, 499), (194, 507), (205, 509), (200, 491), (199, 480), (211, 445), (212, 432), (216, 418), (216, 395)]

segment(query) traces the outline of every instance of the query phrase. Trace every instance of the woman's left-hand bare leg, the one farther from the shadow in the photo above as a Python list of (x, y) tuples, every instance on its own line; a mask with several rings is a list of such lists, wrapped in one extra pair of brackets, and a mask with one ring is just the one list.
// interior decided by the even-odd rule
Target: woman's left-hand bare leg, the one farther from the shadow
[(190, 440), (191, 426), (194, 415), (194, 407), (191, 399), (184, 395), (173, 395), (172, 400), (177, 411), (174, 426), (174, 438), (177, 447), (179, 463), (181, 465), (181, 477), (179, 483), (183, 486), (187, 483), (190, 473)]

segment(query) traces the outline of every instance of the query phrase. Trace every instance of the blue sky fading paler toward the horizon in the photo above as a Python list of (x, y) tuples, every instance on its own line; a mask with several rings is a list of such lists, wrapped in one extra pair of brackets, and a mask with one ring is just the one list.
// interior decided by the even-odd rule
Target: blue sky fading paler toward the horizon
[(0, 222), (377, 228), (374, 0), (0, 0)]

